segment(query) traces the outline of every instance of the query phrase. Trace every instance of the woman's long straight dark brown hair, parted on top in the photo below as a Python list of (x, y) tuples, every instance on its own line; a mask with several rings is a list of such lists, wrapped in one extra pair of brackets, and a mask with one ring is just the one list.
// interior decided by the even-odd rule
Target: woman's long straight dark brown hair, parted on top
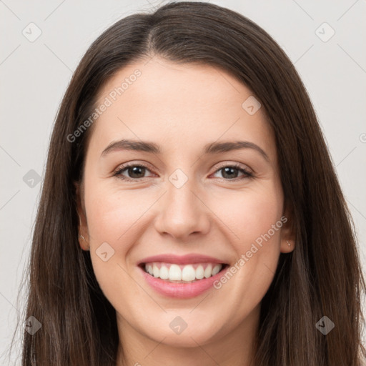
[[(131, 61), (158, 54), (229, 72), (252, 90), (272, 126), (285, 205), (296, 247), (281, 254), (262, 300), (256, 366), (360, 366), (361, 298), (365, 292), (355, 230), (295, 67), (257, 24), (214, 4), (178, 2), (127, 16), (91, 44), (71, 79), (56, 118), (34, 227), (22, 365), (116, 365), (115, 310), (104, 297), (90, 253), (78, 242), (74, 182), (83, 173), (87, 129), (73, 134), (96, 107), (97, 93)], [(335, 328), (323, 335), (327, 316)], [(24, 320), (25, 320), (24, 319)]]

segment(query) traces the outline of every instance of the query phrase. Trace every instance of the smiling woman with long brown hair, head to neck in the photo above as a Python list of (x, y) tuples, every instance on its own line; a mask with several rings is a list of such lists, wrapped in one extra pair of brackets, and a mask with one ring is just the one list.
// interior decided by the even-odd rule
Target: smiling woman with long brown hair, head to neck
[(23, 365), (360, 366), (364, 291), (307, 91), (263, 29), (180, 2), (94, 41), (51, 137)]

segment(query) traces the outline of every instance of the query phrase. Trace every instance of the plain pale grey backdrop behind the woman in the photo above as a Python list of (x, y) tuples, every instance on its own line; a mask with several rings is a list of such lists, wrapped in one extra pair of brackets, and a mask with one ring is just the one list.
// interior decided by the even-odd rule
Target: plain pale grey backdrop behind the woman
[[(167, 2), (0, 1), (0, 365), (9, 365), (6, 350), (21, 310), (16, 298), (29, 257), (39, 181), (71, 75), (91, 42), (115, 21)], [(211, 2), (262, 26), (295, 64), (355, 220), (365, 269), (366, 1)]]

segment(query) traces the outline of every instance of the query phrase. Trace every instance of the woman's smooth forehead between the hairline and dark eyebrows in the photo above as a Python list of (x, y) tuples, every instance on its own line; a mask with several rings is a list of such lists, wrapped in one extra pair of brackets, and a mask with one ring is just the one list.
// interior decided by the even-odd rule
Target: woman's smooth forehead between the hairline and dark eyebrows
[(166, 145), (168, 150), (198, 149), (199, 144), (240, 137), (274, 155), (264, 111), (248, 113), (246, 101), (258, 107), (253, 98), (244, 84), (216, 66), (177, 64), (158, 56), (136, 61), (99, 91), (97, 107), (108, 107), (94, 122), (91, 146), (101, 149), (98, 145), (133, 138)]

